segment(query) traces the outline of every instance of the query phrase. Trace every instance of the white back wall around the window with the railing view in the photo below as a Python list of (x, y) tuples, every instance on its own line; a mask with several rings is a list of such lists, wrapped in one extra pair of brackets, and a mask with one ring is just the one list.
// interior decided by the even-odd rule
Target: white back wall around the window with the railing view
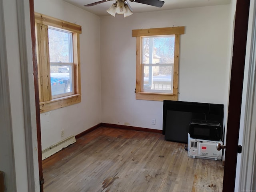
[(180, 37), (178, 100), (224, 104), (226, 114), (229, 17), (229, 5), (101, 17), (102, 122), (162, 129), (163, 102), (135, 99), (132, 29), (141, 28), (185, 26)]

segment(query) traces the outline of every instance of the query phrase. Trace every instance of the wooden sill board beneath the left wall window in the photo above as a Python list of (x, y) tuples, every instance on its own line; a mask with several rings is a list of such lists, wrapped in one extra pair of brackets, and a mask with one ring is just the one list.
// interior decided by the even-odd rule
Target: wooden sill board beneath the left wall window
[(56, 110), (81, 102), (81, 94), (55, 98), (50, 101), (40, 102), (40, 113)]

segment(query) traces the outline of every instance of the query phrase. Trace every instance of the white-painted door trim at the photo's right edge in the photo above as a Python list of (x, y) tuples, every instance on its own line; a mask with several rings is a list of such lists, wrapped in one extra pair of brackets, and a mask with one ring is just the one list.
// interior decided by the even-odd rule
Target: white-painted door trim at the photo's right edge
[(249, 19), (252, 18), (252, 29), (250, 29), (250, 20), (248, 27), (247, 46), (250, 50), (248, 86), (246, 91), (245, 121), (243, 134), (243, 150), (240, 168), (239, 191), (256, 191), (256, 4), (251, 1)]

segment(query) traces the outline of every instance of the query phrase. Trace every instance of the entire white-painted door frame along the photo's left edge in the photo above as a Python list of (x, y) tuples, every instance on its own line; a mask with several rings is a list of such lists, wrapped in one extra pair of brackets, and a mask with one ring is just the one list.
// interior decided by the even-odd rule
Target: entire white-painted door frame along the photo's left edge
[[(3, 165), (6, 165), (7, 169), (8, 165), (5, 162), (9, 160), (8, 164), (12, 164), (11, 169), (6, 172), (7, 191), (17, 191), (18, 188), (18, 190), (35, 192), (39, 189), (28, 2), (28, 0), (0, 0), (2, 16), (0, 19), (2, 37), (0, 39), (2, 80), (0, 92), (4, 91), (4, 94), (0, 94), (0, 105), (4, 101), (1, 108), (4, 112), (1, 116), (4, 118), (4, 123), (1, 126), (6, 125), (3, 129), (6, 131), (1, 136), (8, 135), (3, 140), (8, 139), (5, 143), (8, 146), (4, 151), (8, 150), (10, 154), (6, 155)], [(12, 17), (10, 17), (11, 14)], [(11, 35), (10, 30), (13, 30)]]

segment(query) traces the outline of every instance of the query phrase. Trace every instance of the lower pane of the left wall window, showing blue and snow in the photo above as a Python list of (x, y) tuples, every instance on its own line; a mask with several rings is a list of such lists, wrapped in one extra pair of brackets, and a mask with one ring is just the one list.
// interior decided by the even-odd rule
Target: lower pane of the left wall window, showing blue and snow
[[(72, 94), (72, 65), (50, 65), (52, 96)], [(65, 96), (62, 95), (62, 96)]]

